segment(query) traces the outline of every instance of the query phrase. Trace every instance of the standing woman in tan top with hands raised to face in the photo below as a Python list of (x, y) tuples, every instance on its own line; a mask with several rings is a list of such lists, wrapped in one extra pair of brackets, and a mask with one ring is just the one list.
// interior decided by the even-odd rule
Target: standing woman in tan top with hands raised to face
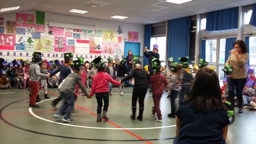
[(231, 102), (231, 107), (234, 109), (234, 95), (238, 101), (238, 113), (243, 113), (243, 88), (247, 79), (246, 63), (249, 54), (247, 53), (246, 44), (243, 40), (237, 40), (234, 43), (234, 49), (230, 51), (230, 56), (225, 65), (231, 65), (233, 72), (228, 74), (228, 101)]

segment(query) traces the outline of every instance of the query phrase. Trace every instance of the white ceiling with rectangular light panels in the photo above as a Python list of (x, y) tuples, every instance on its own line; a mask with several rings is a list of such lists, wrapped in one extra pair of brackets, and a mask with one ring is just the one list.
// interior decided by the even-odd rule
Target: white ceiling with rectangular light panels
[[(165, 0), (0, 0), (0, 8), (20, 6), (19, 10), (1, 12), (0, 16), (5, 13), (35, 10), (134, 24), (153, 24), (254, 3), (256, 0), (193, 0), (183, 4), (167, 3)], [(99, 8), (92, 8), (89, 4), (98, 4)], [(68, 12), (72, 9), (85, 10), (88, 13)], [(109, 18), (114, 15), (128, 18)]]

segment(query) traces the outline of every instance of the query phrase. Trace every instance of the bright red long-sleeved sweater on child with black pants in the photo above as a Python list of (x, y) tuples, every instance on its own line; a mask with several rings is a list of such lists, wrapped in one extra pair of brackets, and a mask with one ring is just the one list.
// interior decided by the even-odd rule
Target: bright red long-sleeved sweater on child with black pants
[(108, 81), (112, 84), (115, 84), (116, 86), (121, 85), (121, 82), (115, 81), (112, 79), (112, 77), (109, 76), (109, 74), (101, 71), (93, 77), (92, 90), (90, 95), (93, 95), (93, 93), (109, 92)]

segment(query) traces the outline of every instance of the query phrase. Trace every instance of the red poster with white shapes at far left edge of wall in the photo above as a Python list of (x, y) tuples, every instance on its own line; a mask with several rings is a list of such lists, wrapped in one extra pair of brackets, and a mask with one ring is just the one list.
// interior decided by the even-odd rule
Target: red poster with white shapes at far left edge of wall
[(7, 35), (0, 33), (0, 49), (1, 50), (14, 50), (15, 35)]

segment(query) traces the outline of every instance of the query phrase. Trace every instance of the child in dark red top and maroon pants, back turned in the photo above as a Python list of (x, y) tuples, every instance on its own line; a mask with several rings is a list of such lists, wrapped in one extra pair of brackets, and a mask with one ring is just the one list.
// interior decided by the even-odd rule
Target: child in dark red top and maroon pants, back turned
[(161, 74), (161, 61), (157, 58), (154, 58), (152, 61), (152, 68), (154, 75), (150, 77), (149, 84), (152, 84), (152, 92), (154, 99), (154, 107), (152, 109), (152, 116), (155, 116), (157, 113), (156, 122), (162, 122), (162, 114), (160, 109), (160, 100), (163, 95), (163, 90), (167, 86), (168, 82), (166, 77)]

